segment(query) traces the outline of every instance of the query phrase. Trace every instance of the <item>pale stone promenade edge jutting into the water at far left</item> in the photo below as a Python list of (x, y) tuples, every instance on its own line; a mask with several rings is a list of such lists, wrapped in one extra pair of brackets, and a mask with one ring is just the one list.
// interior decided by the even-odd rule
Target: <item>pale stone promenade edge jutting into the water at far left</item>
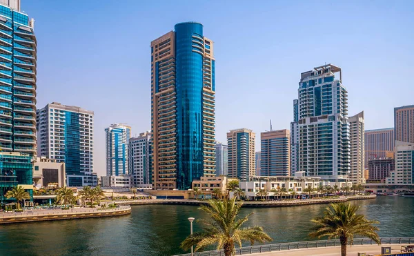
[(39, 209), (25, 210), (23, 212), (0, 213), (0, 224), (12, 224), (30, 221), (49, 221), (59, 219), (83, 219), (92, 217), (112, 217), (131, 213), (130, 206), (118, 206), (117, 208), (87, 208), (76, 207), (69, 210)]

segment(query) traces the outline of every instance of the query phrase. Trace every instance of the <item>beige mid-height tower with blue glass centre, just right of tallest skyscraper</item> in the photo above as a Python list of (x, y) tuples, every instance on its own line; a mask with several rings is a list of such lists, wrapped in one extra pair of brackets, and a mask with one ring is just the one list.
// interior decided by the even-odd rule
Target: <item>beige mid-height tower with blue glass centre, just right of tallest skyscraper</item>
[(242, 181), (255, 176), (255, 132), (242, 128), (227, 132), (228, 177)]

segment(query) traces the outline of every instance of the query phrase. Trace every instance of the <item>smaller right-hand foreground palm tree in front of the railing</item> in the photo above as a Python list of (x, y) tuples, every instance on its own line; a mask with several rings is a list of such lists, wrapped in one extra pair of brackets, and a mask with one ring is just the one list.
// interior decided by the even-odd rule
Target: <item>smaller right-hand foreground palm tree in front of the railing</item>
[(315, 224), (311, 229), (311, 237), (328, 237), (328, 239), (338, 238), (341, 242), (341, 255), (346, 256), (346, 245), (352, 244), (354, 235), (369, 237), (377, 244), (380, 244), (380, 237), (375, 232), (379, 230), (378, 221), (368, 220), (362, 214), (357, 214), (359, 207), (351, 206), (350, 203), (331, 204), (326, 208), (324, 217), (312, 219)]

